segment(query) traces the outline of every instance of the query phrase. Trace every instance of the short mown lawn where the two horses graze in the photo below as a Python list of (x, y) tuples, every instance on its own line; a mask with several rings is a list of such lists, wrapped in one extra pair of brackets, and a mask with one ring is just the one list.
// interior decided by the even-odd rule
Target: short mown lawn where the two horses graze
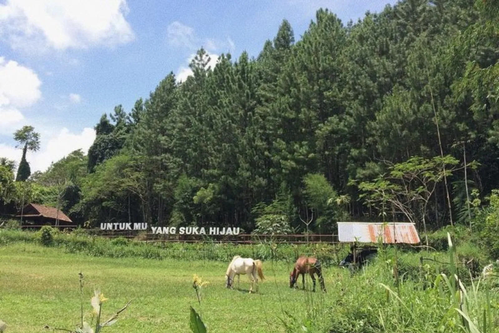
[[(288, 276), (292, 267), (284, 263), (263, 262), (266, 280), (260, 283), (258, 294), (248, 294), (246, 276), (241, 277), (241, 290), (228, 290), (227, 265), (96, 258), (34, 244), (12, 244), (0, 248), (0, 319), (7, 323), (7, 333), (48, 332), (45, 325), (73, 329), (80, 314), (79, 272), (84, 275), (86, 316), (91, 316), (94, 289), (108, 298), (103, 304), (104, 320), (133, 299), (118, 322), (104, 329), (109, 333), (191, 332), (189, 306), (201, 313), (209, 332), (285, 332), (280, 319), (289, 321), (286, 312), (296, 318), (310, 317), (305, 316), (307, 311), (325, 309), (334, 301), (332, 294), (291, 290)], [(324, 269), (326, 288), (333, 271), (336, 277), (347, 274), (337, 268)], [(202, 292), (201, 307), (192, 287), (194, 274), (209, 282)], [(327, 325), (325, 318), (322, 321)]]

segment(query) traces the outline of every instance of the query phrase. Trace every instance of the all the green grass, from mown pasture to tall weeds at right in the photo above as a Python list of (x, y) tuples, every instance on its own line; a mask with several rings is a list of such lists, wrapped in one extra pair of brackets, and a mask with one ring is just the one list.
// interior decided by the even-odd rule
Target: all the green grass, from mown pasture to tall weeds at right
[[(241, 277), (241, 291), (225, 288), (228, 262), (222, 257), (226, 250), (239, 249), (248, 253), (254, 250), (253, 258), (261, 259), (257, 253), (265, 254), (265, 245), (254, 249), (199, 245), (200, 252), (183, 260), (175, 259), (176, 254), (171, 257), (174, 251), (184, 250), (181, 244), (156, 248), (99, 239), (81, 243), (79, 239), (57, 237), (53, 246), (44, 247), (31, 239), (33, 235), (9, 235), (0, 233), (0, 320), (9, 326), (7, 333), (47, 332), (43, 330), (45, 325), (73, 329), (80, 320), (78, 272), (85, 276), (87, 316), (94, 289), (100, 289), (109, 299), (103, 305), (102, 320), (133, 299), (118, 322), (104, 329), (109, 333), (190, 332), (190, 306), (202, 315), (210, 333), (470, 332), (456, 310), (459, 293), (439, 274), (453, 276), (451, 265), (445, 264), (453, 257), (451, 250), (399, 251), (398, 288), (392, 275), (394, 248), (380, 251), (371, 265), (352, 276), (348, 270), (324, 264), (327, 294), (288, 287), (294, 261), (291, 252), (287, 261), (263, 260), (266, 280), (260, 282), (258, 294), (249, 295), (246, 276)], [(258, 251), (260, 248), (262, 251)], [(191, 246), (186, 249), (195, 250)], [(292, 248), (282, 250), (279, 256)], [(150, 253), (160, 255), (152, 256), (155, 259), (142, 257)], [(483, 261), (481, 265), (489, 261), (470, 243), (459, 245), (457, 253), (457, 258), (478, 258)], [(193, 260), (201, 255), (216, 259)], [(333, 258), (336, 254), (328, 255)], [(421, 266), (420, 256), (440, 263), (425, 261)], [(498, 279), (472, 282), (469, 272), (460, 267), (460, 279), (468, 290), (462, 308), (479, 327), (475, 332), (499, 333)], [(194, 274), (210, 282), (202, 291), (201, 306), (192, 288)], [(301, 283), (301, 279), (298, 281)], [(310, 278), (306, 281), (311, 287)]]

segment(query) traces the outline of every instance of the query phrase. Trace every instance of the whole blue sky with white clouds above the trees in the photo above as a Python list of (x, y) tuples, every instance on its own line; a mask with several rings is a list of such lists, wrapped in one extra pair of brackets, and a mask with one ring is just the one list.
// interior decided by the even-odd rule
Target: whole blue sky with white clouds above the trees
[(212, 67), (222, 53), (256, 57), (282, 19), (299, 40), (315, 12), (346, 24), (395, 0), (0, 0), (0, 157), (17, 163), (13, 132), (31, 125), (40, 149), (31, 172), (76, 149), (87, 153), (103, 113), (130, 111), (173, 71), (191, 74), (204, 47)]

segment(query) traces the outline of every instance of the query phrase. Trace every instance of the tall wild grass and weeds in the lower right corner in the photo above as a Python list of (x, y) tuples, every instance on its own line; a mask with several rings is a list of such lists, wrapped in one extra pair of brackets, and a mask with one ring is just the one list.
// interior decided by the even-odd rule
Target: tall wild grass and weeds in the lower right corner
[(310, 293), (315, 302), (296, 305), (307, 308), (304, 314), (283, 311), (286, 332), (499, 332), (499, 280), (473, 277), (459, 261), (469, 247), (456, 247), (448, 234), (448, 250), (434, 253), (436, 261), (418, 265), (419, 255), (389, 248), (353, 275), (329, 272), (329, 302), (318, 302), (324, 296)]

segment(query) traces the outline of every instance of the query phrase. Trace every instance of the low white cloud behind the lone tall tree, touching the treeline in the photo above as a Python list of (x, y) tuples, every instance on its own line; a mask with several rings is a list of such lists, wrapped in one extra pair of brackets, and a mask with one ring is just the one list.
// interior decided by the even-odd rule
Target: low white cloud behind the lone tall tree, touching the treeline
[[(81, 149), (86, 154), (88, 148), (95, 140), (95, 130), (84, 128), (81, 133), (71, 133), (67, 128), (62, 128), (52, 136), (41, 136), (40, 150), (28, 152), (26, 160), (31, 168), (31, 173), (35, 171), (45, 171), (52, 162), (57, 162), (74, 150)], [(12, 159), (19, 165), (21, 159), (21, 149), (14, 146), (0, 144), (0, 157)]]

